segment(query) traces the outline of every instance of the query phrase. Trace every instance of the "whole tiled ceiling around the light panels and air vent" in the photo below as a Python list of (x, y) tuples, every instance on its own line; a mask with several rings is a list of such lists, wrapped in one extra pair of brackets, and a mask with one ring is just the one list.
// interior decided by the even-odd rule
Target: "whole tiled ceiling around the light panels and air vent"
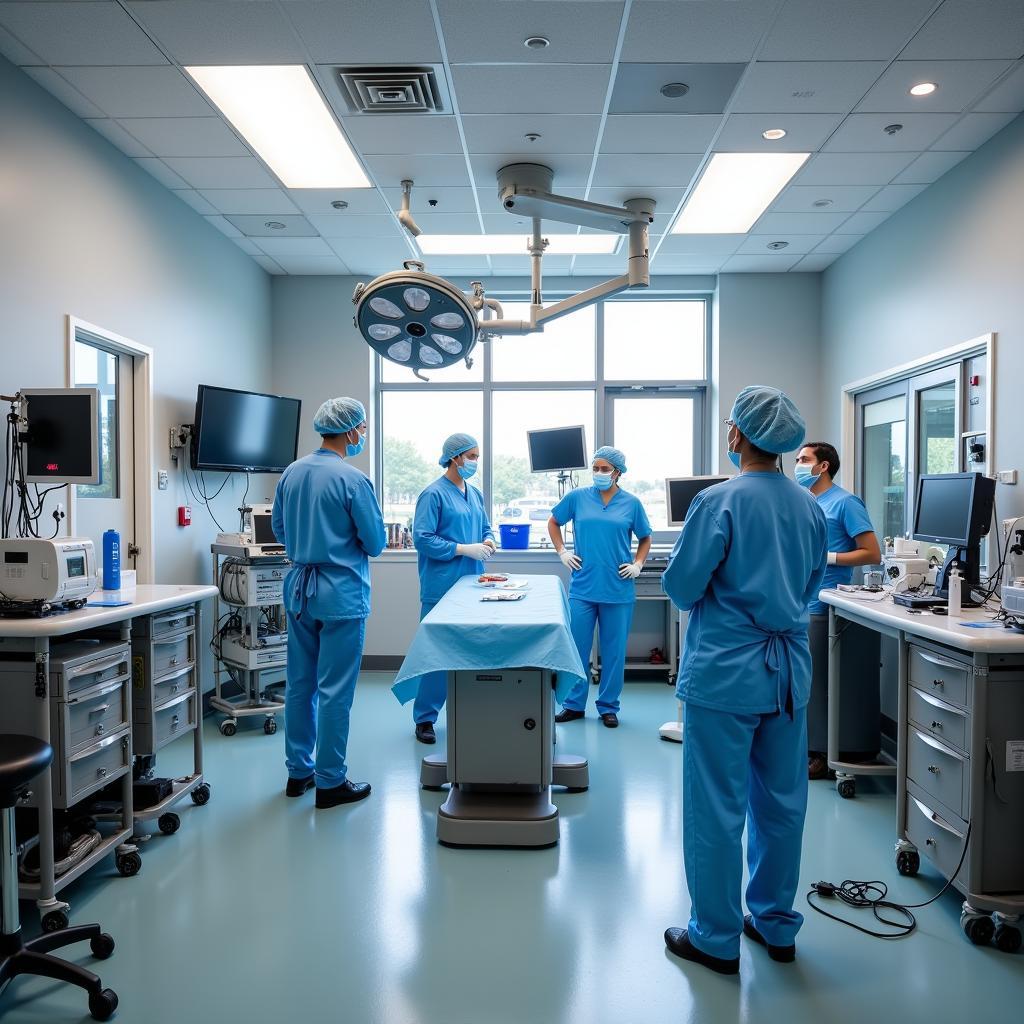
[[(415, 257), (395, 218), (406, 177), (425, 232), (524, 230), (495, 179), (523, 160), (569, 196), (654, 198), (653, 274), (817, 271), (1024, 110), (1021, 0), (14, 0), (0, 3), (0, 53), (289, 274)], [(263, 63), (309, 68), (375, 187), (283, 187), (181, 70)], [(352, 116), (335, 69), (395, 65), (433, 66), (450, 113)], [(925, 80), (939, 88), (909, 96)], [(664, 96), (675, 82), (688, 91)], [(766, 141), (771, 128), (786, 136)], [(668, 233), (713, 154), (764, 151), (812, 156), (749, 233)], [(618, 273), (623, 258), (545, 267)], [(528, 259), (429, 268), (519, 274)]]

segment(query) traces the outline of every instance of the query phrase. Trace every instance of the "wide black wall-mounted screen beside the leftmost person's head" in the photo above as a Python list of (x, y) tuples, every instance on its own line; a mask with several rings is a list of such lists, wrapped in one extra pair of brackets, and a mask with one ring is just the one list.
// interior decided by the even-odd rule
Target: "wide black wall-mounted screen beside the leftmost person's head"
[(193, 469), (281, 473), (295, 462), (298, 398), (199, 386)]

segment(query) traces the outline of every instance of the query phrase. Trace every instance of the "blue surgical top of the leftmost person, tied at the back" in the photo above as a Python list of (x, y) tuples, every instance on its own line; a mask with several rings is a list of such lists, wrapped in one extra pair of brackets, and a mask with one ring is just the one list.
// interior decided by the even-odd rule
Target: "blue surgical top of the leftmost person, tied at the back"
[[(366, 473), (328, 449), (293, 462), (278, 483), (271, 525), (294, 566), (285, 582), (289, 611), (321, 621), (370, 614), (369, 559), (384, 550), (387, 534)], [(297, 573), (313, 567), (305, 601), (296, 601)]]

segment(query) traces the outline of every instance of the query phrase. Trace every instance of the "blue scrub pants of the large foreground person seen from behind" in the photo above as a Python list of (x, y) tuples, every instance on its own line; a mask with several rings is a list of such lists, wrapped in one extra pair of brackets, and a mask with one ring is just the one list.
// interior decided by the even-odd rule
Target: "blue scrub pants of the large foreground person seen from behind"
[(712, 956), (739, 955), (746, 907), (773, 946), (792, 945), (807, 810), (807, 713), (731, 715), (687, 703), (683, 726), (683, 859), (690, 941)]

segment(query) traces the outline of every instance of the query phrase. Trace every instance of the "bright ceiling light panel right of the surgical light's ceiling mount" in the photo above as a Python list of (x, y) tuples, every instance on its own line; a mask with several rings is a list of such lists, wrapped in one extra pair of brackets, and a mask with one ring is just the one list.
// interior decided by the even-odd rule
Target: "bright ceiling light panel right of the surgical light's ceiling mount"
[(673, 234), (745, 234), (809, 153), (716, 153)]

